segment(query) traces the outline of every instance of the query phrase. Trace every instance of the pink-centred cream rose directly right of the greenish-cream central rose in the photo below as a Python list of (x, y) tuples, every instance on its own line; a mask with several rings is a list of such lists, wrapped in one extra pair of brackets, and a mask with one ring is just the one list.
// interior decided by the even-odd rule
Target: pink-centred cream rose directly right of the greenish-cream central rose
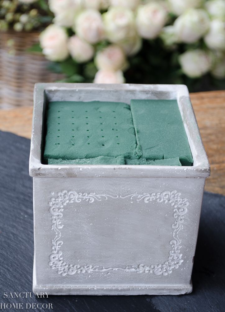
[(166, 24), (166, 19), (166, 8), (160, 3), (149, 2), (140, 5), (136, 17), (138, 34), (145, 39), (156, 38)]

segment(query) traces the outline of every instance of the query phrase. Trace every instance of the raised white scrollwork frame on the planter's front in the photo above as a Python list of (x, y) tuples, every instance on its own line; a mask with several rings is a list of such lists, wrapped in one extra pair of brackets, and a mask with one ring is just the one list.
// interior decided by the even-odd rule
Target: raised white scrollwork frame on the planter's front
[[(54, 193), (52, 193), (54, 194)], [(77, 193), (75, 191), (62, 191), (57, 193), (56, 198), (51, 198), (49, 202), (50, 213), (52, 215), (52, 230), (55, 232), (55, 237), (52, 240), (52, 253), (49, 256), (49, 266), (52, 269), (56, 269), (58, 274), (63, 276), (73, 275), (75, 273), (91, 273), (91, 272), (104, 272), (104, 271), (117, 271), (121, 270), (124, 272), (138, 272), (138, 273), (153, 273), (156, 275), (167, 275), (172, 272), (172, 269), (177, 269), (183, 262), (181, 259), (182, 254), (180, 253), (180, 243), (181, 240), (178, 237), (178, 233), (182, 230), (182, 222), (185, 213), (187, 212), (188, 201), (186, 198), (180, 198), (180, 193), (176, 190), (174, 191), (164, 191), (161, 193), (143, 193), (143, 194), (130, 194), (126, 196), (111, 196), (107, 194), (96, 194), (96, 193)], [(68, 264), (63, 260), (63, 252), (60, 250), (63, 241), (61, 238), (61, 229), (63, 224), (61, 223), (63, 217), (63, 209), (69, 203), (73, 202), (94, 202), (101, 201), (102, 199), (107, 200), (108, 198), (130, 198), (139, 201), (144, 201), (146, 203), (156, 200), (157, 202), (163, 202), (165, 204), (171, 205), (174, 213), (174, 223), (172, 224), (172, 240), (170, 241), (171, 250), (169, 251), (169, 256), (167, 260), (162, 264), (152, 264), (150, 266), (144, 264), (136, 264), (132, 266), (125, 267), (99, 267), (93, 265), (72, 265)]]

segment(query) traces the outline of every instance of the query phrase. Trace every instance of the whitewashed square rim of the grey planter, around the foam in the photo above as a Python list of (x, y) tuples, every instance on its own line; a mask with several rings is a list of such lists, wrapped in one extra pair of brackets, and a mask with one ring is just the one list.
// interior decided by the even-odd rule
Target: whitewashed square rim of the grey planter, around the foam
[[(117, 91), (116, 94), (115, 91)], [(129, 99), (135, 96), (141, 99), (176, 99), (194, 159), (193, 166), (42, 164), (41, 144), (45, 100), (74, 100), (74, 97), (76, 99), (78, 97), (77, 100), (84, 100), (86, 97), (87, 100), (91, 100), (92, 96), (94, 96), (93, 100), (104, 100), (104, 96), (107, 100), (108, 94), (115, 96), (115, 101), (122, 96), (121, 101), (126, 99), (128, 103)], [(185, 85), (36, 83), (29, 172), (32, 177), (49, 178), (207, 178), (210, 175), (210, 165), (191, 105), (189, 91)]]

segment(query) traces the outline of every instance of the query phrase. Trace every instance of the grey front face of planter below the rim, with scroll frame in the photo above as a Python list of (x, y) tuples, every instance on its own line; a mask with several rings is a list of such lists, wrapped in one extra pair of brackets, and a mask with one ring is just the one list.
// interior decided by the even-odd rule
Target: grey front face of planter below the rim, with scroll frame
[(33, 180), (35, 291), (190, 292), (204, 179)]

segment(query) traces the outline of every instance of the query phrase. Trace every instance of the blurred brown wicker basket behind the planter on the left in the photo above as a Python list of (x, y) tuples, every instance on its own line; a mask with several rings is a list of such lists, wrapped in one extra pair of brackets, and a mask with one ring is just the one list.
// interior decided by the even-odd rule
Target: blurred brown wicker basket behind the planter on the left
[(0, 108), (33, 105), (35, 82), (54, 82), (63, 75), (47, 70), (40, 53), (27, 52), (38, 42), (38, 32), (1, 32)]

